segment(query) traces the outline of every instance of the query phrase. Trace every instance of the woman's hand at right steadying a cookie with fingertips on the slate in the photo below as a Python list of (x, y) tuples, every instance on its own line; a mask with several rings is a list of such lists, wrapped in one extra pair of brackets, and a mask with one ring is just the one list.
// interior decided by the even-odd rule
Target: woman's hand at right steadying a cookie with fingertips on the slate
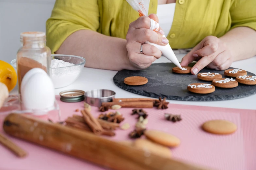
[(181, 66), (187, 66), (193, 61), (198, 61), (191, 69), (191, 73), (196, 75), (205, 66), (216, 70), (229, 68), (232, 55), (225, 42), (216, 36), (207, 36), (183, 57)]

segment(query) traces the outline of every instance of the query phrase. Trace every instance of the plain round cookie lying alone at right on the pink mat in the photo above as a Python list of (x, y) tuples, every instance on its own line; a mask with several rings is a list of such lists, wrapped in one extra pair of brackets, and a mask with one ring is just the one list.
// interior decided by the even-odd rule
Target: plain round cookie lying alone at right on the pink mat
[(234, 133), (237, 126), (227, 120), (210, 120), (203, 123), (202, 129), (212, 134), (226, 135)]

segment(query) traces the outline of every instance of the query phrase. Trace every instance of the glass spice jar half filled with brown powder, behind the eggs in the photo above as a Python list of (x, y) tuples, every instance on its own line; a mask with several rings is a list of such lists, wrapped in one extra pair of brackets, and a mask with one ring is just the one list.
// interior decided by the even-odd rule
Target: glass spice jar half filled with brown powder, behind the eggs
[(20, 85), (24, 75), (32, 68), (41, 68), (49, 74), (51, 50), (46, 46), (44, 32), (24, 32), (20, 35), (22, 47), (17, 52), (17, 73)]

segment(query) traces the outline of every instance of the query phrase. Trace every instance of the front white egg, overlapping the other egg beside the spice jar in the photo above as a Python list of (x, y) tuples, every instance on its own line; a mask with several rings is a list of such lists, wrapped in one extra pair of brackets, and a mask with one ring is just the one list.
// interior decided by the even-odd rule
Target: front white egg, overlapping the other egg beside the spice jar
[(21, 86), (21, 99), (26, 109), (43, 110), (53, 107), (55, 92), (51, 78), (45, 72), (33, 74)]

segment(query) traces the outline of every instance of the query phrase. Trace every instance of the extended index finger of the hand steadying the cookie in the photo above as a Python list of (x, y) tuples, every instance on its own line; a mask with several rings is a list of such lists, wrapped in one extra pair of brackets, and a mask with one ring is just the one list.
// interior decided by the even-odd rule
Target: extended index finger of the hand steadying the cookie
[(210, 64), (215, 58), (217, 54), (213, 53), (207, 56), (202, 57), (192, 68), (191, 73), (196, 75), (201, 69)]

